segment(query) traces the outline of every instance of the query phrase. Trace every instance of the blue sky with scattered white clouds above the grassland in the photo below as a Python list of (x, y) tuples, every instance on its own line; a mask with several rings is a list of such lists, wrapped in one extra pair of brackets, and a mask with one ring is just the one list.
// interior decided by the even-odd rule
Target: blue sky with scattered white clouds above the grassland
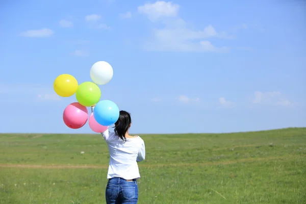
[[(0, 8), (0, 132), (92, 133), (65, 126), (74, 101), (55, 78), (113, 79), (101, 99), (132, 133), (222, 133), (306, 126), (303, 1), (5, 1)], [(88, 109), (89, 110), (89, 109)]]

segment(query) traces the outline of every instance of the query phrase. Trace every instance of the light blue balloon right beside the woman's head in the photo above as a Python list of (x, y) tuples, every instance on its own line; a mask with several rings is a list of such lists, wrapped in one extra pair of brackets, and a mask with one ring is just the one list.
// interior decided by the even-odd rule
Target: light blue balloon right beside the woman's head
[(93, 116), (97, 123), (110, 126), (119, 118), (119, 108), (111, 100), (101, 100), (93, 109)]

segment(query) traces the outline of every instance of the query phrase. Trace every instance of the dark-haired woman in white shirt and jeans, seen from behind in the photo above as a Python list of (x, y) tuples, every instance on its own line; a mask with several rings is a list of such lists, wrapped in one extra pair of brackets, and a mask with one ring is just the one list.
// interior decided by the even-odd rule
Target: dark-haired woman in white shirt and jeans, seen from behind
[[(93, 112), (94, 106), (91, 107)], [(106, 187), (107, 204), (136, 204), (138, 201), (137, 179), (140, 178), (137, 162), (145, 159), (144, 141), (129, 135), (131, 115), (120, 111), (115, 122), (115, 132), (101, 133), (110, 151), (110, 164)]]

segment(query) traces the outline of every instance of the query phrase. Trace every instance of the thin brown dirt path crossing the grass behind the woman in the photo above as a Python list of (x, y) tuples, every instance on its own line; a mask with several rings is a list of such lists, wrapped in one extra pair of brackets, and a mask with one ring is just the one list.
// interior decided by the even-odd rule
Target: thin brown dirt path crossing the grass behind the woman
[[(222, 162), (206, 162), (206, 163), (172, 163), (172, 164), (139, 164), (139, 167), (167, 167), (167, 166), (208, 166), (208, 165), (228, 165), (243, 162), (259, 162), (269, 160), (288, 160), (303, 158), (302, 156), (291, 156), (291, 157), (268, 157), (268, 158), (248, 158), (240, 160), (230, 160)], [(35, 169), (106, 169), (108, 165), (36, 165), (36, 164), (0, 164), (0, 167), (9, 168), (35, 168)]]

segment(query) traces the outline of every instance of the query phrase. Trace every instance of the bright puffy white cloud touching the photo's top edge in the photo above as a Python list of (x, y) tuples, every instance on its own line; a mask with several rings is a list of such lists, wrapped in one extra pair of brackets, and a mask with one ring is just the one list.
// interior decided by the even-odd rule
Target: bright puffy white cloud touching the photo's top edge
[(150, 20), (161, 17), (175, 17), (179, 13), (180, 5), (171, 2), (157, 1), (154, 4), (146, 3), (137, 8), (139, 13), (145, 14)]

